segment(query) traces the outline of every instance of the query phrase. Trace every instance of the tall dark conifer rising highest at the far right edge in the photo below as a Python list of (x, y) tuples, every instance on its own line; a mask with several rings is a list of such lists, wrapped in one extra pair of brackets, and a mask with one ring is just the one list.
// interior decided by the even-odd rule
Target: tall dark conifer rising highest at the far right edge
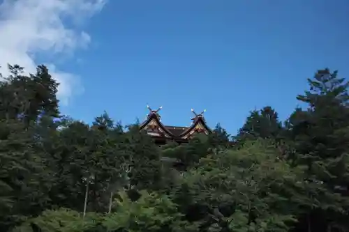
[[(333, 189), (341, 185), (341, 181), (348, 181), (343, 180), (346, 179), (343, 175), (347, 171), (349, 150), (348, 82), (339, 79), (336, 71), (331, 73), (328, 69), (319, 70), (308, 81), (310, 91), (297, 99), (308, 103), (309, 107), (306, 111), (295, 111), (290, 134), (296, 140), (300, 162), (309, 166), (310, 173), (315, 169), (328, 171), (327, 175), (322, 173), (318, 178)], [(342, 173), (335, 173), (339, 171), (338, 166), (334, 168), (336, 165), (341, 167)]]

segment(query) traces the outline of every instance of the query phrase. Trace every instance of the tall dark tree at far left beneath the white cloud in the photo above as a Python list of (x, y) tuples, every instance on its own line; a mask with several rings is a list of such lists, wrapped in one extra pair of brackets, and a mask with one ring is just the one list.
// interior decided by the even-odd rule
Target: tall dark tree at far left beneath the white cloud
[(0, 83), (0, 227), (6, 231), (50, 205), (50, 171), (38, 152), (38, 117), (57, 116), (57, 84), (45, 66), (36, 75), (23, 75), (9, 65), (10, 76)]

